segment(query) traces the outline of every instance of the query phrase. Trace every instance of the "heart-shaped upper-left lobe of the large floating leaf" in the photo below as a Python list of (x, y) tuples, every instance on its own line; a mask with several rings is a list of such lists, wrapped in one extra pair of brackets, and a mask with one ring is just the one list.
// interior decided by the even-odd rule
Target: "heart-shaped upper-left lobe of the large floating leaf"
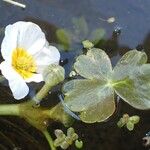
[(112, 66), (108, 55), (103, 50), (92, 48), (86, 55), (77, 58), (74, 69), (85, 78), (106, 80), (111, 74)]

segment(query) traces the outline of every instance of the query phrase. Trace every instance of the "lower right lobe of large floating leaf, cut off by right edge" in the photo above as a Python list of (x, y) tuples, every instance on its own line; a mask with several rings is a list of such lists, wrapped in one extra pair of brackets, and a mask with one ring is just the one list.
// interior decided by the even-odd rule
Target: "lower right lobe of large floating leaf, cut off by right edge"
[[(116, 93), (135, 108), (150, 109), (150, 64), (127, 71), (126, 77), (120, 76), (120, 80), (115, 81), (113, 87)], [(118, 72), (115, 73), (118, 76)]]

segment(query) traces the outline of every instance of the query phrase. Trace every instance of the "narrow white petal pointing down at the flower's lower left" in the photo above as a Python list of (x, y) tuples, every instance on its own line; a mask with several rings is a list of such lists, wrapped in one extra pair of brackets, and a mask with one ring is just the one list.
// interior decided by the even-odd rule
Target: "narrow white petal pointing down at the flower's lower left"
[(0, 64), (0, 69), (9, 82), (14, 98), (17, 100), (24, 98), (29, 93), (29, 88), (23, 78), (6, 61)]

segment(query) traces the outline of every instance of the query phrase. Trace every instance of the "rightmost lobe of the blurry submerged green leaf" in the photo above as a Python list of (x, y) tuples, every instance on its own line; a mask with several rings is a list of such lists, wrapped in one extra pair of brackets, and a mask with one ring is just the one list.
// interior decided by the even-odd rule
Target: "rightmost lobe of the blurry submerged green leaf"
[(92, 41), (93, 44), (97, 44), (105, 35), (105, 30), (102, 28), (98, 28), (92, 31), (89, 40)]

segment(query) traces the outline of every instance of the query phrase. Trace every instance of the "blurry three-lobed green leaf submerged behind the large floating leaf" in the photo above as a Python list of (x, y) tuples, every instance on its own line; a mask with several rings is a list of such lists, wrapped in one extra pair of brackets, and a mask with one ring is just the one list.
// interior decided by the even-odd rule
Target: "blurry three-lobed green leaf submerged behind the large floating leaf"
[(105, 30), (103, 28), (97, 28), (90, 31), (88, 23), (84, 17), (73, 18), (72, 24), (73, 31), (65, 28), (60, 28), (56, 31), (58, 44), (62, 50), (72, 50), (72, 45), (74, 43), (81, 44), (81, 41), (86, 39), (96, 45), (104, 38)]

